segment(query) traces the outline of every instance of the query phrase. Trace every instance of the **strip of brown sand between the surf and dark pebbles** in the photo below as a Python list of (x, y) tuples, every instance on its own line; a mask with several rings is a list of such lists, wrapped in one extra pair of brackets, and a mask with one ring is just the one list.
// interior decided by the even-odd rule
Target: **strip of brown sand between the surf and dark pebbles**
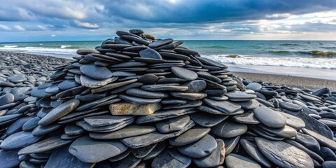
[(290, 87), (305, 87), (309, 89), (317, 89), (328, 87), (332, 91), (336, 91), (336, 80), (326, 80), (318, 78), (305, 78), (297, 76), (274, 75), (265, 73), (247, 73), (247, 72), (232, 72), (235, 76), (241, 76), (246, 80), (262, 80), (267, 83), (277, 85), (287, 85)]

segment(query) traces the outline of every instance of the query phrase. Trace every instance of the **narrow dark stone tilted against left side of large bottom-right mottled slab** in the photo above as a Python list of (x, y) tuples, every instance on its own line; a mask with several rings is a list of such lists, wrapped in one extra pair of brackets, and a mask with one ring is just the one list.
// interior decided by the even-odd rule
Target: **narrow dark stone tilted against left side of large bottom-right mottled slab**
[(240, 144), (254, 160), (258, 161), (264, 167), (272, 167), (272, 162), (270, 162), (258, 149), (255, 144), (252, 144), (246, 139), (240, 139)]

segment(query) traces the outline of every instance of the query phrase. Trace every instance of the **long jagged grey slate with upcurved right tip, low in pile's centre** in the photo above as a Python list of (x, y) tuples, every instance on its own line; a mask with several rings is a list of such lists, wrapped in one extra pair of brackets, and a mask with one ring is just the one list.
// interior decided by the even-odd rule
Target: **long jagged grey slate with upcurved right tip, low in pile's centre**
[(141, 148), (151, 144), (157, 144), (160, 141), (165, 141), (166, 139), (170, 139), (172, 137), (177, 137), (194, 126), (195, 123), (192, 120), (190, 120), (189, 123), (186, 125), (186, 127), (184, 127), (182, 130), (179, 130), (178, 132), (172, 132), (169, 134), (160, 134), (159, 132), (152, 132), (137, 137), (121, 139), (121, 141), (130, 148)]

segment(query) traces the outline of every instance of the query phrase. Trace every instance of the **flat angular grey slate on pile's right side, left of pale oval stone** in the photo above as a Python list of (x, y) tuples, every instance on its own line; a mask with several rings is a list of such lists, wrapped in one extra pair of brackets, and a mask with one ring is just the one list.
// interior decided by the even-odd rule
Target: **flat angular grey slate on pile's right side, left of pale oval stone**
[(217, 109), (218, 111), (222, 111), (226, 115), (230, 115), (241, 109), (241, 106), (239, 104), (235, 104), (230, 101), (215, 101), (207, 98), (203, 99), (203, 101), (212, 108)]

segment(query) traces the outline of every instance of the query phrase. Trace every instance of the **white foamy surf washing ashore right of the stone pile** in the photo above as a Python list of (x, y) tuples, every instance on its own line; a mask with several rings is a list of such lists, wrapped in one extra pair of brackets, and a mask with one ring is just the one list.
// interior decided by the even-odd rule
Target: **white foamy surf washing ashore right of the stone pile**
[(319, 57), (255, 57), (239, 55), (239, 57), (227, 57), (228, 55), (202, 55), (223, 64), (245, 64), (264, 66), (288, 66), (304, 68), (336, 69), (335, 58)]

